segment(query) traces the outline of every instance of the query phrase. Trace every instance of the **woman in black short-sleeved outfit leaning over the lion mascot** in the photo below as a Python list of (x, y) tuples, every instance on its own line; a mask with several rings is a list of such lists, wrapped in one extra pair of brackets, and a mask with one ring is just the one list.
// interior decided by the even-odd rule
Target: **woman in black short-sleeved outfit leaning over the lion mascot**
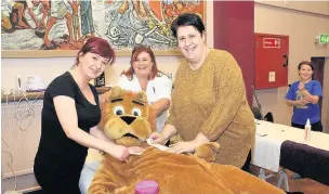
[(71, 70), (47, 88), (41, 115), (41, 139), (35, 158), (35, 176), (47, 194), (78, 194), (88, 147), (123, 161), (128, 147), (116, 145), (97, 129), (101, 108), (96, 89), (89, 83), (115, 62), (115, 52), (102, 38), (90, 38), (79, 51)]

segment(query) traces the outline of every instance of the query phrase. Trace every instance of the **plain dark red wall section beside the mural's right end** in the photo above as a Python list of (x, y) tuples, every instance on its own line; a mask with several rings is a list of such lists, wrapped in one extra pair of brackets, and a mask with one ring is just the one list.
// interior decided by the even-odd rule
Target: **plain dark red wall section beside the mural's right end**
[(214, 48), (231, 52), (240, 65), (248, 102), (254, 82), (254, 2), (213, 1)]

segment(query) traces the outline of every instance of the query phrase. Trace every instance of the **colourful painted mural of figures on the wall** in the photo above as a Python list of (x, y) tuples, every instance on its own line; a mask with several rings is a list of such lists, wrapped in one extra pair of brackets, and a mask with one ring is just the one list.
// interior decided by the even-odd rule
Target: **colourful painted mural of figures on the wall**
[(172, 21), (186, 12), (205, 21), (205, 7), (201, 0), (1, 0), (1, 49), (79, 50), (97, 36), (118, 51), (135, 44), (173, 51)]

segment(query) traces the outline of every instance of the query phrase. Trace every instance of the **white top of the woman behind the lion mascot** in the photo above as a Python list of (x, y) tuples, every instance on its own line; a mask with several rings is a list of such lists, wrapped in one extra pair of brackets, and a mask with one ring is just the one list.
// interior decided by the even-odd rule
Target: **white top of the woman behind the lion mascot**
[[(130, 90), (133, 92), (142, 91), (142, 87), (140, 85), (136, 75), (133, 75), (132, 80), (129, 80), (127, 76), (121, 75), (117, 86), (124, 90)], [(157, 102), (160, 99), (171, 100), (171, 90), (172, 90), (172, 82), (166, 75), (162, 75), (161, 77), (156, 76), (153, 80), (149, 80), (147, 83), (147, 88), (146, 88), (147, 100), (150, 104)], [(161, 115), (157, 117), (156, 120), (157, 120), (158, 132), (162, 131), (167, 118), (168, 118), (168, 111), (161, 113)]]

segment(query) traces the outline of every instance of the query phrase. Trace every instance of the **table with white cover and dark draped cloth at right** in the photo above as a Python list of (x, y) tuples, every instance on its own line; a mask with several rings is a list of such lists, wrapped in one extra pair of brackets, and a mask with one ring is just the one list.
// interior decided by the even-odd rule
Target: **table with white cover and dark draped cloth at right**
[[(280, 177), (278, 187), (282, 181), (289, 191), (285, 171), (289, 169), (323, 184), (329, 185), (329, 134), (312, 131), (311, 141), (304, 141), (304, 130), (255, 120), (255, 146), (251, 164), (260, 169), (260, 178), (266, 180), (273, 174), (265, 174), (265, 169), (278, 172)], [(282, 168), (280, 168), (282, 167)]]

